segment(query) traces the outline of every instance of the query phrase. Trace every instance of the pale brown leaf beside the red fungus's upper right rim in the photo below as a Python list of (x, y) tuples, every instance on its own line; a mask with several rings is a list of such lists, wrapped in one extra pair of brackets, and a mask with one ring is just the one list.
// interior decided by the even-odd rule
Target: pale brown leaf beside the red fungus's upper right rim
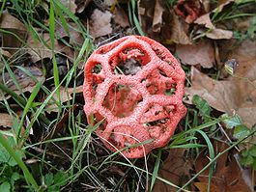
[(212, 41), (201, 41), (197, 44), (178, 44), (176, 52), (183, 64), (201, 65), (203, 68), (213, 68), (214, 48)]

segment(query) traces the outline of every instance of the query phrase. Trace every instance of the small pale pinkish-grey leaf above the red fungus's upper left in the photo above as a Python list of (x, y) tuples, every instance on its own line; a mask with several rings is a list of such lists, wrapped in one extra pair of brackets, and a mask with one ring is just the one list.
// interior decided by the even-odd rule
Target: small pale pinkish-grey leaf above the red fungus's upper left
[(90, 18), (90, 35), (99, 38), (111, 34), (111, 16), (112, 14), (108, 11), (101, 12), (99, 9), (95, 9)]

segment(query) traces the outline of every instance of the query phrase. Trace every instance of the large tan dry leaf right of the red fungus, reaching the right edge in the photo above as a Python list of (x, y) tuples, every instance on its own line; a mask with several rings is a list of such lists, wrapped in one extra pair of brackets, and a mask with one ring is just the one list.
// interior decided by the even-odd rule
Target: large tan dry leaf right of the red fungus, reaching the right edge
[[(229, 58), (238, 61), (239, 67), (234, 77), (217, 81), (197, 69), (191, 70), (190, 88), (185, 88), (185, 94), (191, 103), (194, 95), (202, 96), (210, 105), (230, 115), (236, 111), (244, 123), (252, 126), (256, 123), (256, 43), (243, 41), (233, 51)], [(236, 77), (237, 75), (237, 77)]]

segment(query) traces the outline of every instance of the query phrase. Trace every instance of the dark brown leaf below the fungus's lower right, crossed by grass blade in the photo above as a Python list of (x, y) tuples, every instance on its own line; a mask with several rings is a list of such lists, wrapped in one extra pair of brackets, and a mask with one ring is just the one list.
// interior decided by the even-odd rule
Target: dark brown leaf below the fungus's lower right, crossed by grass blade
[[(185, 158), (185, 149), (173, 149), (159, 168), (158, 177), (169, 180), (170, 182), (181, 186), (185, 179), (190, 178), (189, 170), (191, 162)], [(156, 179), (154, 192), (172, 192), (177, 188), (167, 185)]]

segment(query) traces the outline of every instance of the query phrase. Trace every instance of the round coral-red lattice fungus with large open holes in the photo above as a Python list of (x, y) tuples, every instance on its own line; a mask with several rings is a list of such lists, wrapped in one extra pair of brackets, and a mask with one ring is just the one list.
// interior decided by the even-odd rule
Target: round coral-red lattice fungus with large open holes
[(165, 146), (186, 109), (185, 72), (161, 44), (128, 36), (97, 49), (85, 65), (84, 111), (111, 151), (139, 158)]

